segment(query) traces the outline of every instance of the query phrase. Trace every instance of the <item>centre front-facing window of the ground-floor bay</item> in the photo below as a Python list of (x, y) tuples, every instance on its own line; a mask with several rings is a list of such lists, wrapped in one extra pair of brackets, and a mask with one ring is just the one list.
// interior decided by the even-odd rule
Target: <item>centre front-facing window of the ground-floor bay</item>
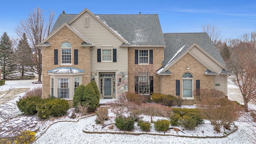
[(58, 98), (69, 98), (68, 78), (58, 78)]

